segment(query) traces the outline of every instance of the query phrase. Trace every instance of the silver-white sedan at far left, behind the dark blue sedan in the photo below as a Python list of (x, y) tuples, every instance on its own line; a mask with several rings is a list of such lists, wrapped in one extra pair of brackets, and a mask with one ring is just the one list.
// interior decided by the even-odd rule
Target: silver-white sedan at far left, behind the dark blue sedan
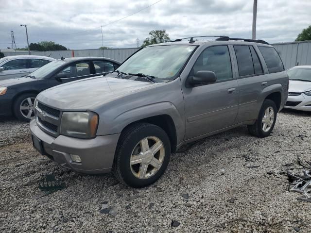
[(35, 55), (2, 57), (0, 59), (0, 80), (28, 75), (54, 60), (52, 57)]

